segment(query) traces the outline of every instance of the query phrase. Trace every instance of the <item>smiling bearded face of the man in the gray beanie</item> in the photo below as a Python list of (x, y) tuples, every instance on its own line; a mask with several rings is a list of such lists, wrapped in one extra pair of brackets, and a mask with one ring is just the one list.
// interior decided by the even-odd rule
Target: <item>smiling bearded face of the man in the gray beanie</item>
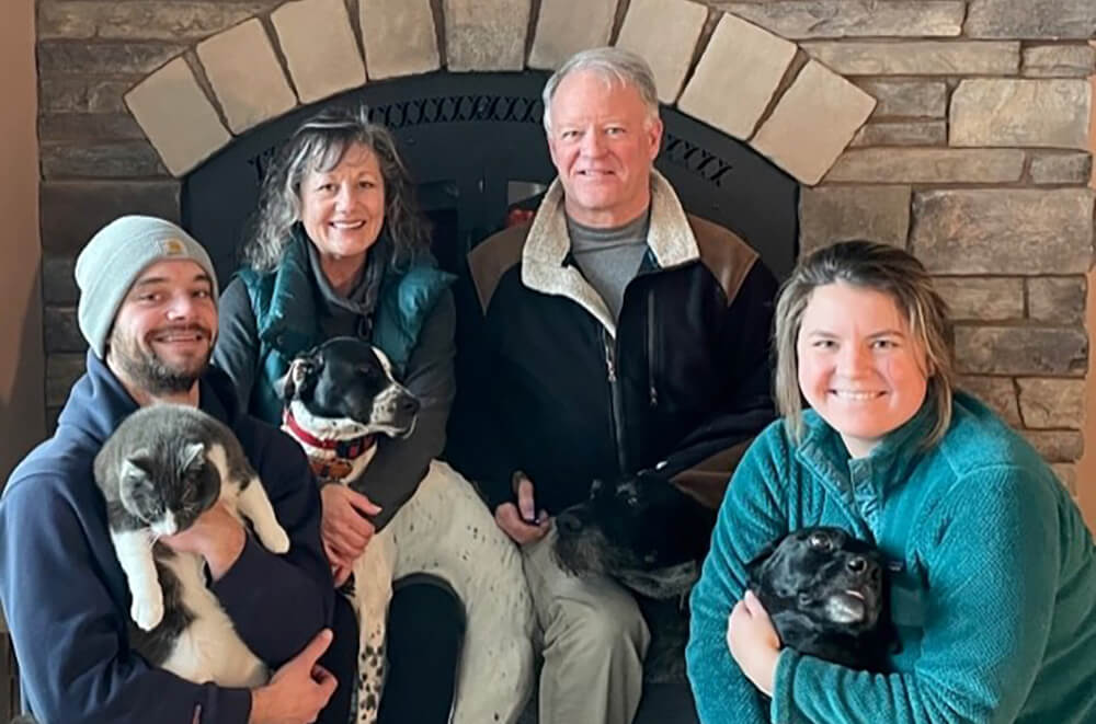
[(216, 336), (209, 275), (192, 261), (157, 262), (118, 308), (106, 364), (132, 392), (187, 392), (205, 371)]

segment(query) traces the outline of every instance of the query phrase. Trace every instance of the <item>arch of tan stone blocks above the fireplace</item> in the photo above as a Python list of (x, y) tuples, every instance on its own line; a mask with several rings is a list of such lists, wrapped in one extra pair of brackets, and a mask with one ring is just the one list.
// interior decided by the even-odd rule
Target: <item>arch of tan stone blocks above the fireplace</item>
[[(435, 16), (431, 0), (359, 0), (359, 46), (343, 0), (290, 0), (197, 43), (138, 82), (125, 103), (168, 170), (183, 176), (235, 136), (298, 106), (443, 67), (551, 69), (607, 44), (617, 22), (617, 0), (543, 0), (535, 24), (532, 0), (439, 5)], [(818, 60), (800, 67), (795, 43), (737, 15), (721, 13), (708, 37), (708, 19), (709, 9), (689, 0), (631, 0), (615, 43), (649, 59), (662, 103), (817, 184), (875, 99)]]

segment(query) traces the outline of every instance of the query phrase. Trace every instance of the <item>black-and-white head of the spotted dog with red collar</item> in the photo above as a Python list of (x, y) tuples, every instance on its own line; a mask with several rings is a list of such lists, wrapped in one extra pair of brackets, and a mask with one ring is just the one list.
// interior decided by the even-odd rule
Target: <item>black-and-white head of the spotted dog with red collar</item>
[(283, 383), (288, 404), (299, 402), (312, 428), (355, 428), (357, 435), (404, 437), (414, 429), (419, 400), (392, 377), (379, 349), (354, 337), (334, 337), (296, 359)]

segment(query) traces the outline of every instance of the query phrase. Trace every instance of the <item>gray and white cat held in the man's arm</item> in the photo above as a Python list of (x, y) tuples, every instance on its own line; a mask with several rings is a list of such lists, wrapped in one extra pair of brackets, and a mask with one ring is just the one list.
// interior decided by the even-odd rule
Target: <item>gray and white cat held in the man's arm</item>
[(232, 432), (196, 407), (142, 407), (103, 445), (94, 473), (133, 595), (133, 647), (153, 666), (197, 683), (264, 683), (266, 666), (206, 586), (203, 559), (157, 542), (186, 530), (222, 501), (251, 522), (269, 550), (289, 550), (289, 537)]

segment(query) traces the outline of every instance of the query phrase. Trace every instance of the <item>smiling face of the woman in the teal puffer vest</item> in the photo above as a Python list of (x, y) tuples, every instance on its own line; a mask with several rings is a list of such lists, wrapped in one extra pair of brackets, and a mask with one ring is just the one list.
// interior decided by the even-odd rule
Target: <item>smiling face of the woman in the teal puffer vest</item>
[(324, 266), (361, 268), (385, 225), (385, 181), (377, 154), (354, 143), (334, 168), (305, 174), (300, 221)]

